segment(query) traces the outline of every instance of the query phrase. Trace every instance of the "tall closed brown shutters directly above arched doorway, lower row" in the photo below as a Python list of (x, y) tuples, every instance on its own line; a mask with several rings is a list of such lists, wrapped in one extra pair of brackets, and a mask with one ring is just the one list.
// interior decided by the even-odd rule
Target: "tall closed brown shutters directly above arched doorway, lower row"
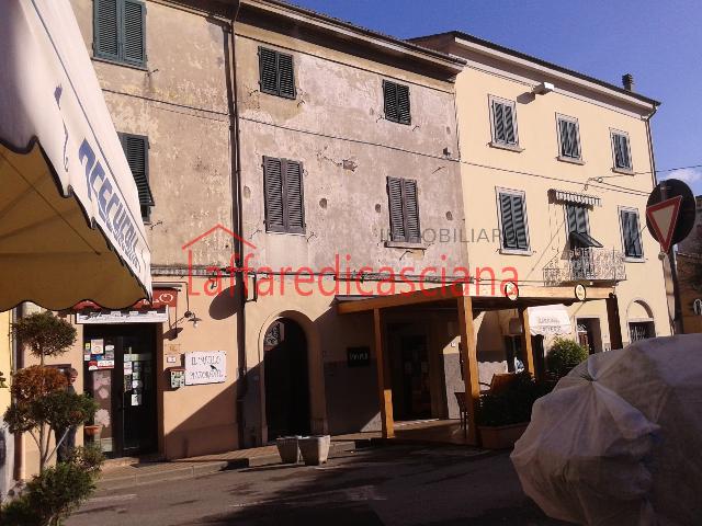
[(305, 233), (303, 164), (288, 159), (263, 158), (265, 230)]

